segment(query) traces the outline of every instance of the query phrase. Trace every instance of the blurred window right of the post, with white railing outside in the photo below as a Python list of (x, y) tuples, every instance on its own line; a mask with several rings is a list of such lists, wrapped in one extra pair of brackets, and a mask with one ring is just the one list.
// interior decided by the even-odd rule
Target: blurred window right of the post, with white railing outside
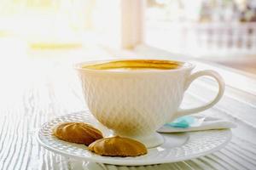
[(145, 43), (177, 54), (256, 53), (256, 1), (147, 0)]

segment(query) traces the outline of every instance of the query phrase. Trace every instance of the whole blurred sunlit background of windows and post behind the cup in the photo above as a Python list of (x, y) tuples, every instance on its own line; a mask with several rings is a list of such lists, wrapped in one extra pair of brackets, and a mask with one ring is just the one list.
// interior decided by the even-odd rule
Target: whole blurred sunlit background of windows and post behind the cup
[(0, 1), (3, 72), (150, 50), (256, 74), (256, 0)]

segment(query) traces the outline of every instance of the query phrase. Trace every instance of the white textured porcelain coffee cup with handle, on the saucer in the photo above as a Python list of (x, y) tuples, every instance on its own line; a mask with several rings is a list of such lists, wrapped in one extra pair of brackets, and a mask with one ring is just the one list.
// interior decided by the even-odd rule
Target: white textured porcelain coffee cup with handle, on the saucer
[[(216, 71), (198, 71), (195, 65), (181, 62), (173, 70), (95, 70), (83, 68), (105, 61), (90, 61), (76, 65), (90, 112), (104, 126), (120, 136), (140, 140), (148, 148), (162, 144), (156, 130), (179, 116), (205, 111), (224, 94), (224, 80)], [(198, 77), (213, 77), (218, 82), (218, 94), (206, 105), (183, 110), (179, 106), (183, 94)]]

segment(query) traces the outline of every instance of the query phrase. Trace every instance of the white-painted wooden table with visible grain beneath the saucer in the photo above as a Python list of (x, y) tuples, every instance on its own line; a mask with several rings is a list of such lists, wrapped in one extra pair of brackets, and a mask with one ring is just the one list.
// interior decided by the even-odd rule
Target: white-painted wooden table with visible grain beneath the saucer
[[(95, 49), (95, 51), (97, 51)], [(39, 55), (39, 57), (38, 57)], [(55, 58), (51, 56), (58, 55)], [(36, 132), (56, 116), (84, 111), (84, 99), (73, 62), (110, 58), (108, 52), (31, 52), (0, 64), (0, 169), (88, 169), (93, 163), (55, 155), (38, 144)], [(103, 56), (103, 57), (102, 57)], [(2, 56), (1, 56), (2, 57)], [(15, 62), (14, 62), (15, 61)], [(233, 139), (224, 149), (208, 156), (177, 163), (147, 167), (102, 169), (256, 169), (256, 77), (218, 65), (194, 61), (196, 69), (218, 71), (226, 81), (224, 98), (203, 112), (236, 122)], [(207, 77), (196, 81), (184, 99), (185, 106), (199, 105), (217, 90)]]

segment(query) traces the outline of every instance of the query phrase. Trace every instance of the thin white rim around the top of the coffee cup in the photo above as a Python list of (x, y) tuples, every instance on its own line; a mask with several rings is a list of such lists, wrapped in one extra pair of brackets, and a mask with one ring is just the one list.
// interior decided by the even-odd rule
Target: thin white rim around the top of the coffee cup
[[(142, 60), (138, 58), (139, 60)], [(96, 63), (102, 63), (102, 62), (109, 62), (109, 61), (118, 61), (118, 60), (137, 60), (135, 59), (99, 59), (99, 60), (88, 60), (84, 62), (79, 62), (73, 65), (73, 68), (77, 71), (87, 71), (87, 72), (108, 72), (108, 73), (113, 73), (113, 74), (124, 74), (124, 73), (152, 73), (152, 72), (177, 72), (177, 71), (184, 71), (184, 70), (192, 70), (195, 68), (195, 64), (192, 64), (188, 61), (184, 60), (177, 60), (177, 59), (153, 59), (153, 60), (169, 60), (169, 61), (174, 61), (174, 62), (180, 62), (183, 63), (183, 66), (178, 69), (167, 69), (167, 70), (132, 70), (132, 71), (114, 71), (114, 70), (96, 70), (96, 69), (88, 69), (88, 68), (82, 68), (82, 65), (90, 65), (90, 64), (96, 64)], [(143, 59), (143, 60), (148, 60), (148, 59)]]

